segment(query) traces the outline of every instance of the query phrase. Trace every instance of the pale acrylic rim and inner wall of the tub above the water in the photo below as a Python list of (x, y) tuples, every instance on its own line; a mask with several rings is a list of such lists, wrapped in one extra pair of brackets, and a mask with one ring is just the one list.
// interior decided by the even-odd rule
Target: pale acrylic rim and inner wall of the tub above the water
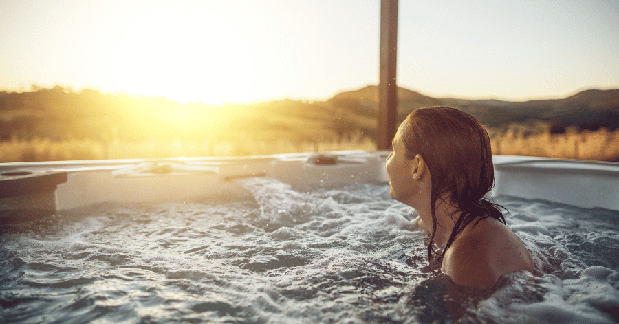
[[(387, 182), (388, 151), (338, 151), (250, 158), (177, 158), (0, 164), (1, 173), (61, 172), (67, 181), (50, 197), (1, 197), (0, 210), (67, 209), (98, 202), (179, 201), (239, 195), (239, 177), (273, 177), (290, 184)], [(492, 195), (547, 199), (619, 210), (619, 164), (494, 156)], [(1, 179), (0, 179), (1, 180)], [(49, 196), (49, 195), (48, 195)], [(39, 202), (40, 201), (40, 202)]]

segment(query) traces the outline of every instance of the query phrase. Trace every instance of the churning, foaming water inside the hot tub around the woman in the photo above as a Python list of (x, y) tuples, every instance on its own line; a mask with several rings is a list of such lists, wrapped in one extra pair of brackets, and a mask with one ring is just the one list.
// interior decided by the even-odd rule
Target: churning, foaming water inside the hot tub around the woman
[(499, 197), (538, 275), (459, 288), (386, 184), (97, 204), (0, 233), (0, 323), (616, 323), (619, 212)]

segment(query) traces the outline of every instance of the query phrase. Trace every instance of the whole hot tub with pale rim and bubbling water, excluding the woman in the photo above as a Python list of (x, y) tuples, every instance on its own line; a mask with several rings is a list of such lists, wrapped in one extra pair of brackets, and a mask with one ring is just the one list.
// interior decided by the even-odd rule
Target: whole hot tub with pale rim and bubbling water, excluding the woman
[(387, 151), (1, 164), (0, 318), (619, 321), (619, 165), (495, 156), (539, 273), (460, 288), (389, 199)]

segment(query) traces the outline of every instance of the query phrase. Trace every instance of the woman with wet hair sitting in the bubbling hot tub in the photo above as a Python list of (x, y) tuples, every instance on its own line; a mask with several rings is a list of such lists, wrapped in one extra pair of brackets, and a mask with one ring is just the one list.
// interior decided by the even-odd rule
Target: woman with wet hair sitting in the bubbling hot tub
[(415, 222), (431, 234), (428, 259), (442, 259), (456, 284), (489, 288), (501, 274), (533, 272), (530, 253), (484, 197), (495, 175), (490, 138), (475, 117), (447, 107), (413, 111), (395, 134), (387, 173), (391, 197), (415, 208)]

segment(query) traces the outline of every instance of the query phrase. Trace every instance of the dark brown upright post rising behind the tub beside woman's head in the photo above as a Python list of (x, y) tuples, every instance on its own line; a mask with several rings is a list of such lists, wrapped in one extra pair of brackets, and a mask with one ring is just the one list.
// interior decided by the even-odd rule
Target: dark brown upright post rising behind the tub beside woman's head
[(395, 56), (398, 50), (398, 0), (380, 1), (380, 84), (378, 85), (378, 149), (391, 149), (398, 130), (398, 85)]

